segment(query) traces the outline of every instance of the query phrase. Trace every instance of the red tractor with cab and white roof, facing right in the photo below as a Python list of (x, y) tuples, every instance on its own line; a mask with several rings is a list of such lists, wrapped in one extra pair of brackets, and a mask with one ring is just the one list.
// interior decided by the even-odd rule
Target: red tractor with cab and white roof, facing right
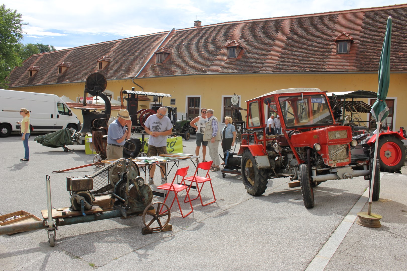
[[(266, 134), (269, 111), (280, 115), (282, 134)], [(239, 149), (241, 173), (247, 193), (262, 195), (272, 178), (291, 177), (289, 187), (301, 186), (306, 208), (314, 207), (313, 187), (327, 180), (364, 176), (371, 181), (370, 149), (363, 159), (351, 157), (358, 145), (350, 126), (335, 123), (325, 91), (281, 89), (247, 101), (247, 129)], [(379, 199), (380, 179), (375, 174), (373, 200)], [(295, 181), (298, 180), (298, 181)]]

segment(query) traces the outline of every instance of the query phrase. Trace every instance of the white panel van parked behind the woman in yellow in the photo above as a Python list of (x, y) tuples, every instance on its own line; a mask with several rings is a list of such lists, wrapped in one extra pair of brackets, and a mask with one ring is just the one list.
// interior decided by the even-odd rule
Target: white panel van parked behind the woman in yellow
[(30, 111), (35, 131), (54, 132), (62, 128), (80, 130), (81, 122), (57, 95), (0, 89), (0, 137), (19, 132), (20, 108)]

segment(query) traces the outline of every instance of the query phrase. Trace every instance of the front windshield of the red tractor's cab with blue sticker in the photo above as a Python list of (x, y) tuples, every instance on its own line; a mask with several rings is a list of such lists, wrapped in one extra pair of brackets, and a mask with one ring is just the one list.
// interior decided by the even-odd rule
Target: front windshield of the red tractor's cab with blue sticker
[(278, 100), (287, 128), (333, 124), (325, 95), (280, 97)]

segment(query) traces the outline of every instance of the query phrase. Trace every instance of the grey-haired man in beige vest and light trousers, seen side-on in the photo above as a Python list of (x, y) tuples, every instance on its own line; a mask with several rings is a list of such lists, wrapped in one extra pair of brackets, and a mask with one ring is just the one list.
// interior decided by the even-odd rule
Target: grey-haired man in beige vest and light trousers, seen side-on
[(204, 130), (204, 141), (208, 141), (209, 156), (212, 158), (212, 170), (219, 171), (219, 141), (221, 141), (221, 133), (219, 132), (219, 122), (216, 117), (213, 115), (213, 109), (206, 110), (206, 117), (208, 121), (205, 124)]

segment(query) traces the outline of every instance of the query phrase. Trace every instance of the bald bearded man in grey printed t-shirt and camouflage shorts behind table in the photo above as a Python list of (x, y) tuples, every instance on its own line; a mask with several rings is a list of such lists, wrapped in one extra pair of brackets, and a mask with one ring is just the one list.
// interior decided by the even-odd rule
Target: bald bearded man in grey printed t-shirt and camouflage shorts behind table
[[(167, 153), (167, 136), (172, 133), (173, 126), (171, 120), (166, 114), (167, 108), (162, 106), (158, 109), (157, 114), (149, 116), (146, 122), (144, 122), (144, 130), (150, 135), (147, 156), (156, 156)], [(160, 168), (161, 184), (164, 184), (166, 182), (164, 176), (165, 165), (160, 165)], [(155, 165), (151, 165), (151, 168), (149, 169), (149, 184), (154, 184)]]

